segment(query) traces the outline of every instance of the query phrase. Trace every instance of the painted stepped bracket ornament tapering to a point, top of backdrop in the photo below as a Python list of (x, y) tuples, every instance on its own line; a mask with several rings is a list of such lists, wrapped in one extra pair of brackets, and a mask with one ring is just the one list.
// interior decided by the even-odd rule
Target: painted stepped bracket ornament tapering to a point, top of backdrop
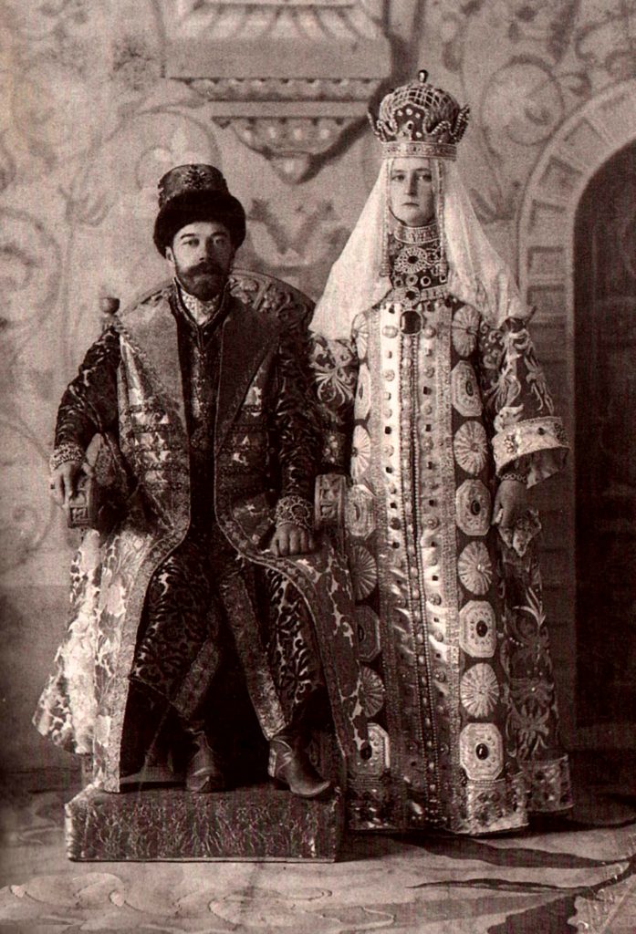
[(171, 3), (167, 77), (200, 94), (212, 120), (279, 177), (303, 181), (356, 138), (391, 73), (387, 6), (182, 0), (175, 11)]

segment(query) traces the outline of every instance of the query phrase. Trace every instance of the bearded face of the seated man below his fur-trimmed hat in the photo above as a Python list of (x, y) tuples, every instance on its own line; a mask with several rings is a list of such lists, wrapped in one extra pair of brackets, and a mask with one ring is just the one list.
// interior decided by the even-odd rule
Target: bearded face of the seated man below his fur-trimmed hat
[(165, 257), (183, 287), (206, 302), (223, 289), (232, 266), (232, 237), (219, 220), (197, 220), (175, 234)]

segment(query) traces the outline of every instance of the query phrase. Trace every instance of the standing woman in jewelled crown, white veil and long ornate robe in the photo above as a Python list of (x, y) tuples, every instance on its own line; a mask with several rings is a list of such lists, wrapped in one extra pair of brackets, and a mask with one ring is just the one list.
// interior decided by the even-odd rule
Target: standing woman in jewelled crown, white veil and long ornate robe
[(561, 467), (529, 314), (454, 164), (468, 120), (425, 72), (381, 103), (384, 160), (312, 330), (373, 757), (357, 828), (519, 828), (571, 806), (528, 488)]

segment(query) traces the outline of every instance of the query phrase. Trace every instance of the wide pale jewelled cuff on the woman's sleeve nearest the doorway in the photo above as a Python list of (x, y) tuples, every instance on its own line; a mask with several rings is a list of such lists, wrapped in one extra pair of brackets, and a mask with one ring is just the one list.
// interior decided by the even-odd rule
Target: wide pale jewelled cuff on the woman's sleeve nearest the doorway
[[(492, 439), (497, 474), (502, 477), (513, 461), (524, 458), (528, 468), (527, 484), (557, 473), (563, 466), (568, 443), (560, 418), (530, 418), (509, 425)], [(514, 468), (512, 468), (514, 471)]]

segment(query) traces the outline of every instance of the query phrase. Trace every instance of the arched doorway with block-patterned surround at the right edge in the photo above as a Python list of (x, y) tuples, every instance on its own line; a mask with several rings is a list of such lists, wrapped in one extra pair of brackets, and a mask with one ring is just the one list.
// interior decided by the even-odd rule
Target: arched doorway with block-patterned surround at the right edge
[[(564, 416), (572, 441), (569, 470), (555, 481), (542, 484), (538, 490), (539, 506), (544, 514), (545, 601), (551, 627), (564, 739), (571, 748), (636, 746), (633, 694), (630, 695), (632, 702), (628, 706), (629, 688), (625, 686), (626, 682), (630, 684), (634, 678), (633, 668), (627, 673), (628, 666), (633, 664), (628, 661), (628, 655), (633, 659), (636, 651), (633, 608), (630, 610), (632, 623), (629, 640), (626, 638), (622, 644), (619, 642), (619, 633), (621, 639), (628, 633), (622, 628), (622, 622), (619, 629), (613, 629), (607, 605), (598, 610), (602, 615), (595, 621), (593, 614), (587, 614), (583, 609), (579, 624), (577, 614), (588, 592), (585, 591), (584, 595), (581, 587), (592, 587), (590, 582), (600, 581), (596, 570), (597, 559), (593, 554), (585, 552), (580, 540), (590, 534), (590, 520), (584, 512), (589, 508), (590, 499), (602, 493), (604, 481), (601, 473), (608, 469), (602, 466), (602, 460), (593, 461), (592, 458), (597, 440), (595, 429), (591, 423), (586, 429), (581, 428), (586, 417), (594, 417), (591, 393), (601, 394), (601, 404), (606, 401), (602, 383), (590, 385), (586, 382), (587, 374), (593, 369), (588, 360), (593, 352), (590, 342), (596, 342), (600, 348), (606, 367), (615, 368), (611, 375), (607, 375), (607, 379), (612, 384), (614, 394), (624, 395), (628, 403), (629, 392), (633, 400), (633, 383), (630, 389), (625, 386), (621, 389), (620, 380), (627, 378), (628, 371), (633, 378), (636, 363), (632, 360), (628, 366), (631, 354), (627, 348), (623, 353), (622, 338), (615, 333), (615, 329), (605, 326), (597, 328), (595, 332), (595, 326), (588, 319), (587, 290), (600, 288), (602, 293), (602, 289), (608, 285), (604, 276), (612, 278), (615, 275), (613, 266), (607, 265), (607, 257), (603, 257), (603, 268), (601, 270), (597, 267), (596, 285), (592, 287), (589, 278), (585, 278), (589, 270), (583, 268), (588, 262), (585, 250), (590, 248), (584, 233), (575, 249), (575, 229), (579, 229), (577, 219), (583, 217), (581, 212), (585, 210), (582, 199), (588, 198), (592, 213), (595, 207), (597, 215), (606, 210), (601, 199), (609, 195), (603, 194), (601, 189), (597, 190), (595, 179), (597, 176), (600, 179), (605, 177), (603, 166), (608, 166), (607, 177), (612, 177), (617, 164), (614, 168), (610, 167), (613, 160), (615, 157), (629, 159), (627, 152), (635, 142), (636, 79), (630, 78), (596, 94), (558, 128), (530, 175), (519, 214), (519, 284), (527, 304), (536, 308), (532, 333), (550, 385), (555, 390), (558, 411)], [(629, 173), (627, 182), (623, 180), (625, 189), (634, 187), (633, 167)], [(620, 191), (620, 186), (617, 191)], [(582, 205), (581, 210), (579, 205)], [(624, 210), (629, 214), (627, 207), (624, 206)], [(620, 222), (617, 223), (620, 227)], [(581, 220), (582, 231), (585, 226)], [(621, 235), (629, 250), (629, 238), (626, 239), (628, 233), (624, 231)], [(600, 236), (602, 239), (603, 234)], [(599, 259), (601, 257), (597, 254)], [(629, 287), (621, 288), (629, 293)], [(610, 291), (609, 297), (612, 294)], [(589, 333), (589, 328), (592, 333)], [(615, 353), (607, 343), (610, 339), (615, 340)], [(608, 386), (609, 383), (606, 383), (605, 390)], [(623, 414), (628, 418), (627, 412), (620, 413), (620, 418)], [(621, 432), (623, 428), (617, 427), (619, 423), (623, 425), (622, 421), (614, 424), (616, 431)], [(610, 427), (606, 428), (605, 435), (608, 432), (612, 432)], [(628, 433), (633, 433), (633, 429)], [(607, 446), (605, 441), (603, 444), (608, 451), (603, 456), (611, 458), (612, 446)], [(633, 453), (631, 456), (633, 458)], [(633, 470), (631, 467), (629, 469)], [(597, 476), (594, 489), (589, 486), (592, 481), (586, 470), (587, 474), (594, 473)], [(633, 483), (633, 474), (629, 476), (629, 483)], [(614, 485), (614, 480), (612, 483)], [(616, 509), (615, 512), (621, 519), (627, 517), (626, 510), (619, 513)], [(602, 510), (597, 509), (593, 524), (598, 525), (601, 515)], [(618, 551), (622, 554), (620, 545)], [(624, 567), (625, 559), (622, 560)], [(634, 567), (636, 565), (632, 564), (631, 569), (628, 568), (632, 577)], [(614, 573), (620, 576), (617, 569), (618, 563), (615, 563)], [(587, 575), (587, 585), (583, 581), (579, 585), (577, 574), (583, 574), (584, 577)], [(626, 587), (634, 587), (634, 582), (624, 579)], [(623, 619), (625, 611), (617, 612)], [(604, 646), (601, 649), (601, 644), (608, 645), (606, 653)], [(612, 648), (609, 648), (610, 644)], [(605, 655), (605, 667), (600, 658), (598, 666), (590, 669), (586, 659), (600, 650), (601, 657)], [(609, 656), (613, 652), (616, 657), (623, 658), (623, 671), (620, 666), (618, 671), (610, 668)], [(605, 695), (602, 701), (601, 693)]]

